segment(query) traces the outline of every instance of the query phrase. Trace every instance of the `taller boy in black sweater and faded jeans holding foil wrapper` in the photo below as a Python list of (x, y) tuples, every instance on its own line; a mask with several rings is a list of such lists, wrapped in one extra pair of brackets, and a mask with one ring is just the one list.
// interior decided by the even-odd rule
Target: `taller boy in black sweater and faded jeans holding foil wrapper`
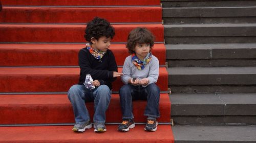
[[(90, 115), (85, 103), (94, 101), (94, 132), (105, 132), (105, 111), (111, 99), (112, 82), (116, 77), (117, 64), (114, 54), (109, 50), (110, 41), (115, 35), (114, 28), (105, 19), (95, 17), (90, 21), (84, 36), (90, 44), (81, 49), (78, 54), (80, 66), (79, 83), (68, 91), (68, 98), (73, 106), (76, 125), (73, 131), (84, 132), (92, 128)], [(84, 85), (87, 75), (90, 74), (95, 86), (88, 89)]]

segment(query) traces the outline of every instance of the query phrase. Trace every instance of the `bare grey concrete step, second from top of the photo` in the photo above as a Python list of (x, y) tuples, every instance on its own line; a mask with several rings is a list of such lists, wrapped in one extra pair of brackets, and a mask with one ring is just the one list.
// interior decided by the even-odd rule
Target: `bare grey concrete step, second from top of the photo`
[(185, 23), (255, 23), (254, 7), (163, 8), (165, 25)]

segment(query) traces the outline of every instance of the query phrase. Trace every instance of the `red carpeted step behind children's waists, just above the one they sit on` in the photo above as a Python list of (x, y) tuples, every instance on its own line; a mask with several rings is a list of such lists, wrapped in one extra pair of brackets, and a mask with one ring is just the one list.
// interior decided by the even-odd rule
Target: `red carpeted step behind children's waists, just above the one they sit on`
[[(122, 72), (122, 68), (118, 68)], [(0, 92), (67, 92), (78, 83), (79, 68), (0, 68)], [(168, 73), (160, 67), (157, 85), (161, 91), (167, 90)], [(113, 82), (113, 91), (123, 85), (118, 77)]]

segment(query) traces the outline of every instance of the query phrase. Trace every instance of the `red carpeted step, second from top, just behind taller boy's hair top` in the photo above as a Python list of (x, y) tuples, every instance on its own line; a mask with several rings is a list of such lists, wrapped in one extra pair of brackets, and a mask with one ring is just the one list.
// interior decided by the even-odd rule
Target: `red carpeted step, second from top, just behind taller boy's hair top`
[(4, 7), (4, 23), (87, 23), (95, 16), (110, 22), (162, 22), (161, 7), (38, 8)]

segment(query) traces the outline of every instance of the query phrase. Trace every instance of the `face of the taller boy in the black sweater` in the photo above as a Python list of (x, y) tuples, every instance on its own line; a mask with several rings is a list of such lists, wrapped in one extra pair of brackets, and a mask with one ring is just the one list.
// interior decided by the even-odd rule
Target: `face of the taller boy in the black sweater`
[(98, 40), (95, 38), (92, 38), (92, 47), (93, 49), (106, 52), (110, 48), (110, 40), (111, 37), (106, 38), (105, 36), (100, 37)]

